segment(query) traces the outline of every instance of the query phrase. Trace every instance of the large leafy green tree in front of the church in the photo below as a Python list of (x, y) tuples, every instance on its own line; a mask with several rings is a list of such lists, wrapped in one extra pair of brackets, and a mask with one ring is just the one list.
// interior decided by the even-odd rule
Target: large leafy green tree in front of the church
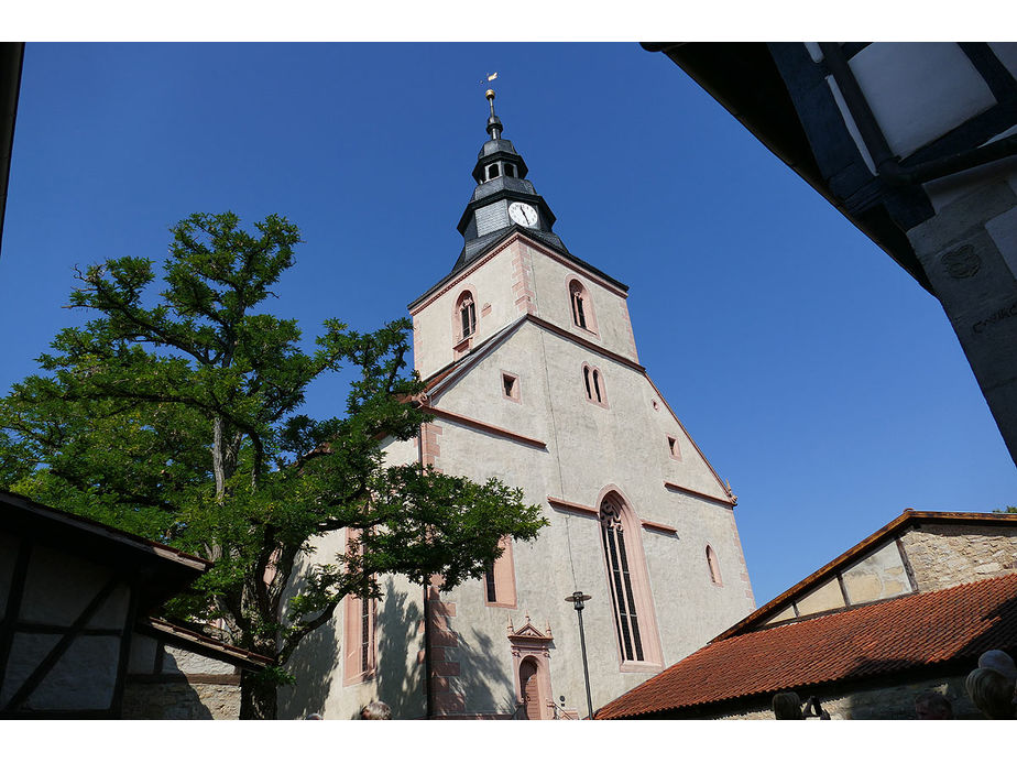
[[(406, 371), (409, 321), (359, 334), (327, 320), (303, 351), (294, 320), (254, 312), (299, 231), (277, 216), (254, 228), (231, 212), (177, 224), (149, 302), (150, 260), (78, 272), (70, 304), (94, 317), (62, 330), (44, 373), (0, 401), (0, 479), (214, 560), (171, 614), (207, 632), (225, 622), (217, 635), (275, 656), (241, 684), (241, 717), (274, 718), (294, 648), (343, 597), (379, 597), (384, 574), (440, 575), (450, 589), (482, 575), (501, 537), (531, 541), (546, 520), (494, 479), (386, 467), (383, 445), (427, 421)], [(302, 415), (308, 383), (340, 364), (356, 370), (346, 415)], [(294, 587), (300, 555), (342, 528), (359, 543)]]

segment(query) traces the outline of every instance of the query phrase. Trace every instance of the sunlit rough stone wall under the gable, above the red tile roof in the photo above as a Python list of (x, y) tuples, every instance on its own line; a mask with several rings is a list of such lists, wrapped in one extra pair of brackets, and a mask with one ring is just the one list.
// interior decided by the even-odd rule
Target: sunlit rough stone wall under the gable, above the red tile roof
[(921, 592), (1017, 570), (1017, 527), (927, 524), (901, 542)]

